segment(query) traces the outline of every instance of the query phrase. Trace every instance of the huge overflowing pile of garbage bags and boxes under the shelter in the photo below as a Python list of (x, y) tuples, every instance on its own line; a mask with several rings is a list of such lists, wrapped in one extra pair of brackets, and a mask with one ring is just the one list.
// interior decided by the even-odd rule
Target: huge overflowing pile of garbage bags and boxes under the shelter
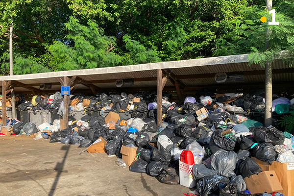
[[(294, 101), (284, 97), (274, 99), (272, 104), (276, 114), (287, 114), (294, 107)], [(116, 163), (128, 166), (131, 172), (147, 173), (165, 184), (195, 187), (193, 194), (197, 196), (287, 193), (288, 185), (283, 184), (287, 182), (278, 179), (281, 176), (277, 177), (270, 166), (264, 166), (294, 163), (294, 137), (248, 116), (265, 109), (262, 94), (216, 95), (201, 91), (187, 97), (183, 104), (163, 95), (162, 107), (163, 123), (158, 126), (154, 93), (75, 95), (71, 96), (70, 110), (88, 115), (80, 119), (70, 116), (66, 129), (60, 128), (58, 119), (39, 127), (18, 120), (8, 125), (16, 135), (33, 134), (35, 139), (86, 147), (89, 153), (106, 152), (118, 157)], [(58, 110), (62, 115), (63, 97), (56, 92), (18, 106), (23, 111), (28, 108)], [(3, 128), (9, 133), (9, 126)], [(275, 177), (276, 186), (263, 180), (269, 176)], [(252, 181), (258, 178), (262, 183), (253, 186)]]

